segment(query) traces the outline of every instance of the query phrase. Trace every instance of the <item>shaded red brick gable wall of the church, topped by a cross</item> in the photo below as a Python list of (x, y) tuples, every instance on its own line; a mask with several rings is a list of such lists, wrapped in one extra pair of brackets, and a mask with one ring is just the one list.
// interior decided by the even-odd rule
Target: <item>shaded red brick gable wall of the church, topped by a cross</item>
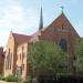
[[(39, 40), (53, 41), (60, 44), (61, 40), (66, 41), (66, 52), (69, 53), (69, 70), (73, 71), (74, 43), (80, 35), (74, 30), (64, 13), (61, 13), (49, 27), (40, 31)], [(62, 44), (63, 45), (63, 44)]]

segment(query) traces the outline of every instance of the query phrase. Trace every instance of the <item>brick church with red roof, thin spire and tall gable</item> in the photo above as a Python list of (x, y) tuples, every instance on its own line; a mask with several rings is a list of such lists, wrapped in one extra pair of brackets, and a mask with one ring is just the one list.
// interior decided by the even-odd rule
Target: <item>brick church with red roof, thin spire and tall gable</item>
[[(43, 28), (42, 9), (40, 14), (39, 31), (32, 35), (24, 35), (11, 32), (3, 55), (3, 74), (15, 74), (15, 72), (25, 77), (29, 75), (29, 44), (31, 42), (46, 40), (55, 42), (69, 53), (69, 70), (73, 71), (74, 59), (74, 42), (80, 39), (80, 35), (70, 23), (64, 12), (62, 12), (51, 24)], [(0, 53), (1, 54), (1, 53)]]

